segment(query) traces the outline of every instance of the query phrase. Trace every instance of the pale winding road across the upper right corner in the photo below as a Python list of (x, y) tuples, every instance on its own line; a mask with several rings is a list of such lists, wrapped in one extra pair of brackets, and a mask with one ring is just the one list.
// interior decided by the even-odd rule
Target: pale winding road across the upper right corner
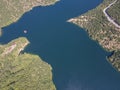
[(107, 17), (108, 21), (111, 22), (115, 27), (120, 28), (120, 25), (118, 23), (116, 23), (107, 13), (107, 10), (114, 5), (118, 0), (115, 0), (114, 2), (112, 2), (111, 4), (109, 4), (109, 6), (107, 6), (106, 8), (103, 9), (103, 13), (105, 14), (105, 16)]

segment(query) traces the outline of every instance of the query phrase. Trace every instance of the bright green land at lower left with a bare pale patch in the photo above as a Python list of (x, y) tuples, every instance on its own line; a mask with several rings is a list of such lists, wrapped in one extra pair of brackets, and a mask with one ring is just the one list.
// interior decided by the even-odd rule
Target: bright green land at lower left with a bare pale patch
[(37, 55), (20, 53), (28, 43), (18, 38), (0, 46), (0, 90), (55, 90), (51, 66)]

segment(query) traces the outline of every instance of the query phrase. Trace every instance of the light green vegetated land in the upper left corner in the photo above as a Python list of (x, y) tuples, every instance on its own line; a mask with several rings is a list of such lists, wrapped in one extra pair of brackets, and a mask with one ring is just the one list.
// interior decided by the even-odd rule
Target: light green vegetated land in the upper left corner
[(35, 6), (47, 6), (57, 1), (58, 0), (0, 0), (0, 29), (16, 22), (25, 12)]

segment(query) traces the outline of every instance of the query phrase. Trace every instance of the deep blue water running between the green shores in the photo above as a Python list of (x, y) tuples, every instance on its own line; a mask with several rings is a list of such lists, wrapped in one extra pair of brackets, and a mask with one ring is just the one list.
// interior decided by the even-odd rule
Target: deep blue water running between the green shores
[[(120, 73), (106, 60), (109, 53), (85, 30), (66, 22), (101, 2), (61, 0), (53, 6), (35, 7), (4, 27), (0, 42), (27, 37), (31, 44), (25, 52), (38, 54), (52, 65), (57, 90), (120, 90)], [(24, 34), (24, 30), (28, 33)]]

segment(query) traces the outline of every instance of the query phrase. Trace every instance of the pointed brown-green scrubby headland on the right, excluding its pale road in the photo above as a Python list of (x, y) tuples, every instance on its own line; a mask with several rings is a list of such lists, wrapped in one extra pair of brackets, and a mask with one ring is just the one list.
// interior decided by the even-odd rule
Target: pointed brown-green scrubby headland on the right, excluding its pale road
[[(115, 27), (103, 13), (108, 5), (115, 0), (104, 0), (98, 7), (88, 11), (81, 16), (68, 20), (88, 32), (89, 36), (97, 41), (105, 50), (114, 52), (112, 56), (108, 58), (108, 61), (120, 71), (120, 28)], [(107, 13), (109, 16), (120, 23), (120, 0), (112, 5)]]

